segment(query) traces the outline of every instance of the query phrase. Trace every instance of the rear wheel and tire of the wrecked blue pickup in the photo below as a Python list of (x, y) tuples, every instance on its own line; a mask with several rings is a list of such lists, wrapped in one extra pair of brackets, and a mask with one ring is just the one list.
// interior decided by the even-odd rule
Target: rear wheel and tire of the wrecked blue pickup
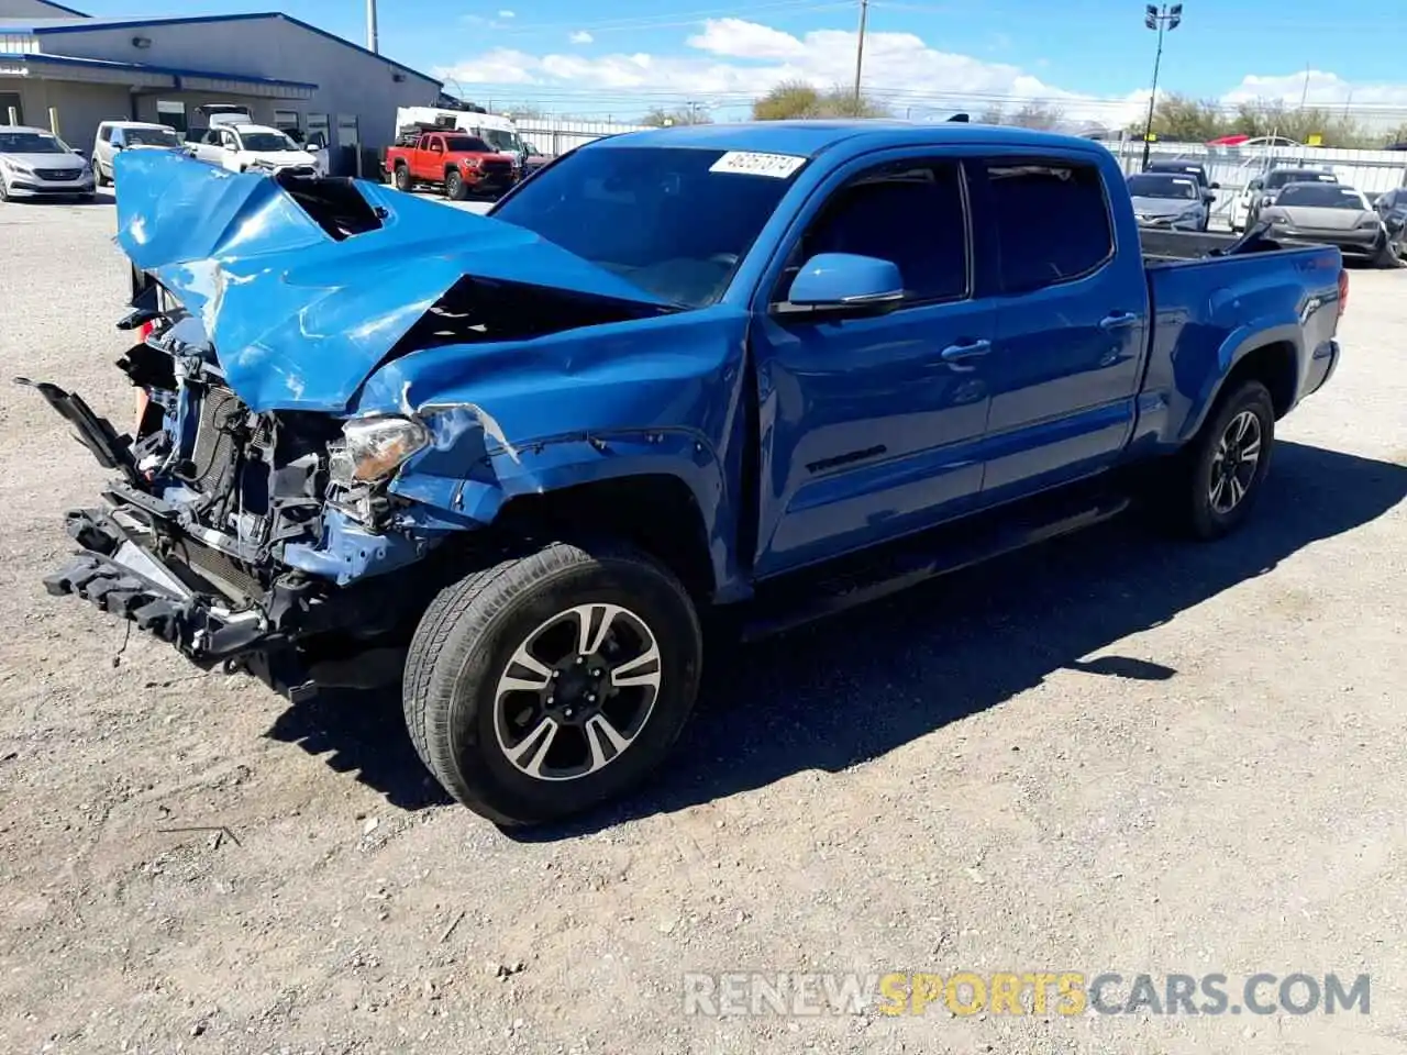
[[(1224, 440), (1234, 459), (1231, 464), (1237, 467), (1234, 484), (1231, 475), (1221, 475), (1228, 464), (1223, 456)], [(1247, 456), (1252, 446), (1256, 457), (1249, 463)], [(1240, 528), (1261, 495), (1273, 447), (1275, 402), (1271, 392), (1259, 381), (1242, 381), (1217, 399), (1180, 459), (1171, 497), (1182, 526), (1193, 537), (1207, 542)]]

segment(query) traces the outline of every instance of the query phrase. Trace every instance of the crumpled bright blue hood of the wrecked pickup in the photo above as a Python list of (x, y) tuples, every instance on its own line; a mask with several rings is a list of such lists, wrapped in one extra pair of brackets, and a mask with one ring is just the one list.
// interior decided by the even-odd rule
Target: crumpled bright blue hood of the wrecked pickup
[[(122, 152), (114, 167), (118, 245), (201, 319), (255, 411), (345, 411), (466, 276), (668, 307), (530, 231), (378, 184), (352, 181), (373, 215), (305, 208), (274, 179), (179, 153)], [(360, 234), (325, 229), (353, 212)]]

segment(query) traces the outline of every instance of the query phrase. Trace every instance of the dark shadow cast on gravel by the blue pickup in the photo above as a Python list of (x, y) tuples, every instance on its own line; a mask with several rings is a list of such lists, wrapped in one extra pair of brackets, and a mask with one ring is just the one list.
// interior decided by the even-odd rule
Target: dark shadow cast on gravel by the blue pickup
[[(1255, 519), (1214, 544), (1126, 516), (751, 647), (711, 640), (694, 720), (658, 779), (553, 841), (670, 813), (805, 769), (836, 772), (998, 706), (1057, 670), (1168, 681), (1154, 658), (1097, 656), (1128, 634), (1272, 571), (1407, 497), (1407, 467), (1278, 443)], [(325, 693), (269, 731), (407, 810), (449, 802), (415, 755), (395, 692)]]

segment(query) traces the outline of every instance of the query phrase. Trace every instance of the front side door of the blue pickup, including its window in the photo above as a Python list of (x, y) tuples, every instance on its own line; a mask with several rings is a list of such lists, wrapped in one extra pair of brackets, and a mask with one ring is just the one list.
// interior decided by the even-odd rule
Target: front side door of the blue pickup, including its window
[[(964, 165), (891, 152), (813, 196), (758, 291), (761, 498), (754, 570), (785, 571), (971, 508), (989, 405), (991, 304), (975, 300)], [(817, 253), (891, 260), (905, 300), (865, 318), (770, 311)]]

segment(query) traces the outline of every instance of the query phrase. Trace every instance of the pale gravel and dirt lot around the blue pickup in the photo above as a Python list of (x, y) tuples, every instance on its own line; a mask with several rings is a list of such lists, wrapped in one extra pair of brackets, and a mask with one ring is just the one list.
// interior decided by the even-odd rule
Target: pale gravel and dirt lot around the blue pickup
[[(111, 229), (0, 207), (0, 360), (125, 421)], [(103, 473), (0, 388), (0, 1049), (1407, 1051), (1407, 270), (1352, 281), (1244, 535), (1116, 523), (715, 653), (660, 782), (518, 838), (395, 698), (48, 598)], [(682, 1014), (736, 969), (1369, 972), (1372, 1013)]]

